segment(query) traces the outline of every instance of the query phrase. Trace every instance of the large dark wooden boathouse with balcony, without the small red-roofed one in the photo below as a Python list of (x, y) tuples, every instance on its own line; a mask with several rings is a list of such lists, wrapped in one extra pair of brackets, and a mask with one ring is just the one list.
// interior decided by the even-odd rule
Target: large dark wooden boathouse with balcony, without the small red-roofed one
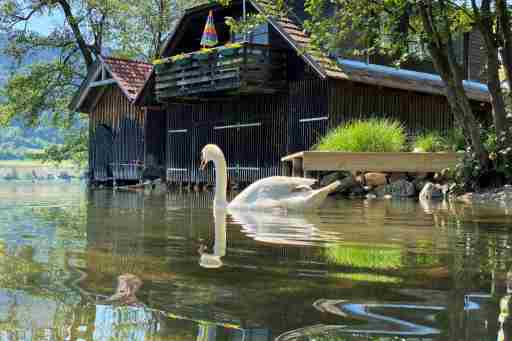
[[(247, 10), (262, 12), (262, 3), (248, 0)], [(210, 10), (220, 44), (204, 53), (199, 41)], [(230, 35), (224, 18), (242, 13), (240, 1), (185, 12), (165, 44), (167, 60), (155, 65), (136, 100), (160, 108), (148, 123), (166, 117), (162, 143), (169, 181), (211, 183), (213, 172), (197, 166), (207, 143), (224, 150), (233, 181), (251, 182), (280, 174), (282, 156), (308, 150), (348, 120), (396, 118), (410, 133), (453, 126), (437, 75), (415, 71), (412, 64), (412, 70), (398, 70), (318, 53), (293, 13), (269, 18), (246, 37)], [(469, 61), (475, 53), (463, 54)], [(486, 86), (468, 81), (466, 91), (477, 111), (490, 110)]]

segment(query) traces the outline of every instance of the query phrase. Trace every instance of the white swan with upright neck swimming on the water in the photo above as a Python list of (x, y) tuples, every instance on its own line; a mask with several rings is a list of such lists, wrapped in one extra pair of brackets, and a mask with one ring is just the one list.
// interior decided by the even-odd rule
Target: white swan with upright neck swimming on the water
[(247, 187), (228, 204), (226, 198), (228, 173), (226, 158), (222, 150), (213, 144), (206, 145), (201, 151), (201, 169), (212, 161), (215, 165), (214, 208), (230, 209), (269, 209), (282, 208), (305, 210), (318, 208), (327, 195), (338, 186), (336, 181), (326, 187), (313, 190), (316, 180), (286, 176), (272, 176), (261, 179)]

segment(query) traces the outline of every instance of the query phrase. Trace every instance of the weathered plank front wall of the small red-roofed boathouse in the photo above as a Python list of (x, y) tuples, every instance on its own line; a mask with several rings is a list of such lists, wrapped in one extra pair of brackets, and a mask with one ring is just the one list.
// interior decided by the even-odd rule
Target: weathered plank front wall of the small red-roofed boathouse
[(136, 180), (144, 161), (144, 110), (118, 87), (107, 89), (90, 113), (89, 171), (92, 180)]

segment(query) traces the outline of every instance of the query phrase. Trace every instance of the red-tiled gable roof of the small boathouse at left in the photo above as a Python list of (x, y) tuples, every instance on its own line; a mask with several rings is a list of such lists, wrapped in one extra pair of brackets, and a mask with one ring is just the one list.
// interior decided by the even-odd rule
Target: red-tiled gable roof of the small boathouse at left
[(71, 101), (70, 108), (85, 113), (91, 112), (103, 95), (104, 88), (110, 85), (117, 85), (133, 103), (152, 68), (151, 64), (136, 60), (99, 57)]

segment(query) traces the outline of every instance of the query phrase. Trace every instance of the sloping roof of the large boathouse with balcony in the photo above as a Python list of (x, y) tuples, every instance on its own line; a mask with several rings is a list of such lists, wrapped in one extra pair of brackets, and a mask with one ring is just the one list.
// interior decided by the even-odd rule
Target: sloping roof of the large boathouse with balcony
[[(270, 0), (247, 1), (260, 13), (263, 12), (264, 6), (272, 4)], [(180, 32), (183, 31), (184, 27), (189, 22), (189, 17), (197, 14), (197, 12), (213, 7), (220, 7), (220, 5), (216, 3), (201, 5), (185, 11), (171, 31), (162, 51), (164, 53), (172, 51), (177, 40), (181, 38)], [(435, 95), (445, 94), (444, 83), (442, 79), (435, 74), (327, 56), (314, 47), (309, 34), (302, 28), (300, 19), (293, 14), (268, 17), (267, 20), (321, 79), (341, 79), (420, 93)], [(147, 82), (149, 85), (149, 78)], [(464, 87), (470, 99), (482, 102), (490, 101), (487, 85), (474, 81), (465, 81)], [(145, 86), (143, 88), (145, 88)], [(141, 89), (141, 92), (135, 100), (137, 104), (142, 96), (142, 92), (143, 89)]]

